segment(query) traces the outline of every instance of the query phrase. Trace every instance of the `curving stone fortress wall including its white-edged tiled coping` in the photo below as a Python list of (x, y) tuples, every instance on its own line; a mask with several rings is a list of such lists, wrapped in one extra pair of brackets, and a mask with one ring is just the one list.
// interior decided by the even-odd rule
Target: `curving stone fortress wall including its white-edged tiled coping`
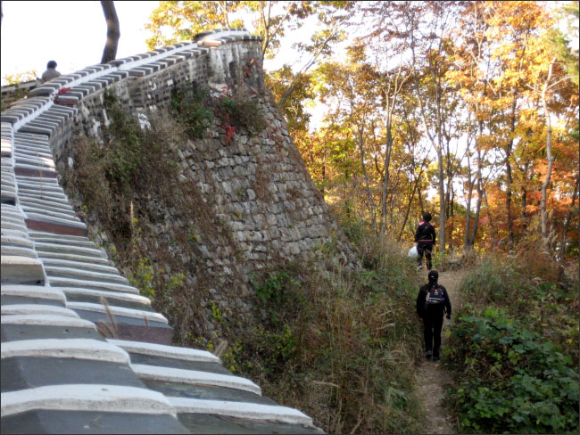
[[(62, 76), (2, 112), (3, 433), (319, 432), (308, 416), (261, 397), (258, 385), (228, 373), (209, 352), (170, 346), (167, 319), (89, 240), (59, 184), (59, 170), (74, 165), (73, 137), (98, 139), (107, 122), (105, 88), (144, 116), (184, 80), (236, 86), (245, 77), (261, 92), (260, 68), (245, 72), (257, 50), (244, 30), (212, 31)], [(268, 108), (266, 117), (269, 129), (255, 143), (239, 136), (236, 146), (211, 149), (200, 142), (184, 154), (182, 176), (198, 179), (213, 197), (244, 254), (228, 265), (227, 252), (208, 244), (203, 254), (201, 245), (207, 267), (220, 273), (262, 264), (274, 247), (286, 258), (306, 256), (338, 231), (283, 119)], [(250, 172), (236, 174), (239, 168)], [(243, 183), (252, 183), (256, 168), (271, 171), (272, 182), (254, 198)], [(344, 261), (352, 261), (343, 248)]]

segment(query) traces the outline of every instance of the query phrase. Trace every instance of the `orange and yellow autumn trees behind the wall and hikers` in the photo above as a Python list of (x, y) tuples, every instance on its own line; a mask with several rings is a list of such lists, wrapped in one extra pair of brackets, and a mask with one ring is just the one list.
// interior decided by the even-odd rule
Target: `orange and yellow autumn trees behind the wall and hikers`
[(537, 232), (575, 255), (577, 21), (578, 2), (160, 2), (147, 43), (247, 26), (263, 61), (299, 31), (302, 63), (266, 82), (345, 222), (410, 240), (429, 210), (441, 250)]

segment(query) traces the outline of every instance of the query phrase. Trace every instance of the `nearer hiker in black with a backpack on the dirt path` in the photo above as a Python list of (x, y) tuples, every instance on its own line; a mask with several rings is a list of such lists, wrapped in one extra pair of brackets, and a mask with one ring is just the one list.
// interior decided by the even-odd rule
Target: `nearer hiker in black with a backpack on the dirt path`
[(423, 285), (417, 295), (417, 314), (423, 319), (425, 330), (425, 356), (427, 359), (433, 357), (437, 361), (440, 357), (441, 349), (441, 329), (443, 328), (443, 314), (447, 313), (447, 318), (452, 318), (452, 301), (443, 285), (439, 285), (437, 280), (439, 274), (432, 270), (427, 275), (429, 283)]

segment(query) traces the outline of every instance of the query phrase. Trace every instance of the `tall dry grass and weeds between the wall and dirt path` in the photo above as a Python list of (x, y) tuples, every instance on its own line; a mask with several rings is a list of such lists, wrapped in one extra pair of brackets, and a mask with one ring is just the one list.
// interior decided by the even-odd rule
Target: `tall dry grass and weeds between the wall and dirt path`
[(392, 242), (365, 243), (375, 269), (338, 267), (323, 254), (284, 269), (296, 283), (282, 286), (278, 322), (244, 338), (242, 372), (330, 433), (420, 431), (414, 274)]

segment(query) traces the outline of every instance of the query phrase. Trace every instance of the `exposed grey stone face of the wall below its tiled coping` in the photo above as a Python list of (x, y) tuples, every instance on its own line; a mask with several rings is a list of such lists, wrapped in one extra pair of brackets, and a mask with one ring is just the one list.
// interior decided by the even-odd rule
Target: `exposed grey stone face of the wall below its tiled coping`
[[(264, 94), (261, 65), (257, 61), (259, 51), (256, 40), (224, 44), (205, 37), (203, 46), (194, 49), (192, 57), (181, 62), (167, 58), (163, 62), (143, 60), (146, 63), (131, 68), (127, 78), (107, 88), (114, 89), (120, 101), (144, 119), (148, 112), (167, 108), (171, 90), (188, 81), (214, 89), (244, 87)], [(119, 62), (120, 68), (125, 65), (123, 60), (112, 63), (115, 62)], [(107, 122), (103, 92), (84, 97), (77, 107), (79, 113), (70, 124), (71, 133), (99, 138), (100, 129)], [(261, 109), (268, 126), (256, 137), (236, 132), (231, 142), (224, 144), (224, 132), (214, 131), (210, 140), (191, 142), (183, 152), (182, 176), (194, 180), (201, 192), (211, 197), (216, 204), (214, 212), (227, 223), (243, 254), (242, 263), (258, 263), (254, 270), (260, 267), (259, 263), (272, 258), (270, 253), (284, 259), (305, 259), (313, 246), (330, 242), (335, 236), (344, 262), (355, 261), (287, 133), (285, 120), (264, 99)], [(71, 155), (68, 128), (66, 136), (53, 141), (59, 170), (64, 169)], [(266, 178), (261, 187), (268, 191), (262, 197), (253, 188), (261, 175)], [(166, 221), (170, 220), (168, 216)], [(219, 258), (212, 258), (209, 250), (209, 246), (200, 246), (206, 259), (215, 263)], [(208, 267), (216, 266), (208, 263)]]

